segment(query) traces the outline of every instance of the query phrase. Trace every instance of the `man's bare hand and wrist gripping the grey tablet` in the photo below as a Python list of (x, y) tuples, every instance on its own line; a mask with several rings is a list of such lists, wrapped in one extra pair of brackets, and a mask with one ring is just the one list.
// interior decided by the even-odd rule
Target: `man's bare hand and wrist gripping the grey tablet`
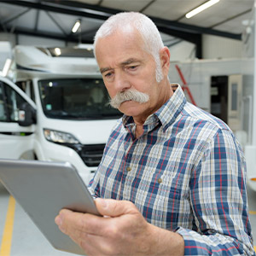
[(130, 201), (96, 199), (96, 207), (104, 217), (64, 209), (55, 218), (87, 255), (183, 255), (182, 236), (148, 224)]

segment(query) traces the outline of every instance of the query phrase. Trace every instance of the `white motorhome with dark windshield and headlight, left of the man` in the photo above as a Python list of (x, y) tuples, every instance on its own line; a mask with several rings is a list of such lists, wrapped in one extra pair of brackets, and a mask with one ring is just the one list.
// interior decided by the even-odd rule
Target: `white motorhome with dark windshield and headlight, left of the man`
[(121, 116), (92, 49), (16, 46), (14, 56), (15, 84), (0, 77), (0, 157), (68, 161), (89, 183)]

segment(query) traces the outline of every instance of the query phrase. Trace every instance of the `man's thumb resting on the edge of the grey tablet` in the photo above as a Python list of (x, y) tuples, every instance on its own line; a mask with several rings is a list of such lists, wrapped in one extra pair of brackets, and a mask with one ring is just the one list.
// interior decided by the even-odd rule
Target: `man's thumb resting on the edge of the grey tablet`
[(137, 208), (130, 201), (97, 198), (95, 202), (102, 216), (119, 217), (137, 212)]

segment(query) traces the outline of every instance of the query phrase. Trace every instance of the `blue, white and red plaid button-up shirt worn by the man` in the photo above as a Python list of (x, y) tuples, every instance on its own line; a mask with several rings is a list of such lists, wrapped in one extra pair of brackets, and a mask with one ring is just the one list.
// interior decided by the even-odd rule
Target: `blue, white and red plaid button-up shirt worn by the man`
[(183, 236), (185, 255), (254, 255), (246, 164), (230, 128), (174, 95), (143, 136), (119, 120), (90, 182), (92, 194), (133, 202), (148, 223)]

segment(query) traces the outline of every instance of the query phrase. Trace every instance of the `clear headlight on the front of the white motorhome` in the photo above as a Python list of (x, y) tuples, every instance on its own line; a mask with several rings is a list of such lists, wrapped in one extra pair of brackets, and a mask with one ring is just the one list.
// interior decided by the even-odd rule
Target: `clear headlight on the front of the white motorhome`
[(79, 141), (70, 133), (44, 129), (44, 137), (51, 143), (78, 144)]

